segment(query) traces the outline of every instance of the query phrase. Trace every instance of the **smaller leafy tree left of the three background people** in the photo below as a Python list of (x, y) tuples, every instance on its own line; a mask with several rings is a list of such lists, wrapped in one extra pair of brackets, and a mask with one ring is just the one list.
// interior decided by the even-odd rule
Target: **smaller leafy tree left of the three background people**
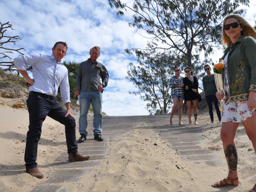
[(182, 63), (182, 58), (165, 52), (154, 55), (141, 53), (137, 57), (139, 65), (130, 63), (126, 79), (132, 81), (139, 90), (130, 94), (139, 95), (147, 101), (148, 112), (152, 113), (157, 107), (163, 107), (167, 114), (172, 102), (169, 80), (173, 76), (174, 66)]

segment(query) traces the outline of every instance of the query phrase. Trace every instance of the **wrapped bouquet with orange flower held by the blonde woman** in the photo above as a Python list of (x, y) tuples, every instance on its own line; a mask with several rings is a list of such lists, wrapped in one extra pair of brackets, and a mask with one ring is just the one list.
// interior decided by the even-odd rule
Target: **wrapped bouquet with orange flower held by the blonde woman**
[[(223, 88), (222, 76), (221, 76), (223, 71), (224, 71), (224, 61), (221, 60), (218, 64), (214, 65), (214, 68), (213, 68), (215, 85), (216, 85), (217, 91), (221, 94), (223, 94), (223, 93), (225, 94), (225, 91)], [(225, 98), (225, 96), (224, 96), (224, 98)], [(220, 103), (221, 103), (220, 111), (223, 110), (223, 106), (224, 106), (223, 99), (220, 101)]]

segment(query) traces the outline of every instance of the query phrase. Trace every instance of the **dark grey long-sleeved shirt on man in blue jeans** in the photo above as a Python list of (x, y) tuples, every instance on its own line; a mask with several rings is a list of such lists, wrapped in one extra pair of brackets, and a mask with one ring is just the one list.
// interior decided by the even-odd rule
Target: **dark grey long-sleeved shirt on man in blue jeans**
[[(102, 83), (100, 82), (102, 79)], [(76, 90), (80, 92), (89, 92), (91, 90), (97, 90), (100, 84), (107, 87), (108, 85), (108, 71), (104, 65), (100, 62), (91, 62), (91, 59), (83, 61), (78, 66), (76, 72)]]

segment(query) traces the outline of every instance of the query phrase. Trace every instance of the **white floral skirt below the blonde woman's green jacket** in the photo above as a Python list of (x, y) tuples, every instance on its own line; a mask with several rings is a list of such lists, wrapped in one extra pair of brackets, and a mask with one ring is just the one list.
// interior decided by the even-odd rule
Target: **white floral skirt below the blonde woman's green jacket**
[(249, 111), (247, 101), (228, 102), (225, 100), (221, 114), (221, 122), (240, 123), (256, 113), (256, 109)]

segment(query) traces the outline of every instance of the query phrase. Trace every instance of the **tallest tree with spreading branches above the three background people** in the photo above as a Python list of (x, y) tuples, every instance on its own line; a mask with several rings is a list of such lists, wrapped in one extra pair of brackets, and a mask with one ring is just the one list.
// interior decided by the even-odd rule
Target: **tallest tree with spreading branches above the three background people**
[[(117, 9), (117, 15), (123, 16), (123, 11), (134, 13), (134, 21), (129, 25), (149, 34), (145, 50), (174, 49), (187, 58), (190, 67), (195, 66), (202, 51), (203, 63), (212, 63), (208, 56), (213, 48), (219, 48), (223, 18), (230, 13), (244, 13), (239, 7), (249, 5), (249, 0), (134, 0), (132, 6), (121, 0), (108, 1)], [(132, 50), (139, 49), (126, 52), (131, 54)]]

